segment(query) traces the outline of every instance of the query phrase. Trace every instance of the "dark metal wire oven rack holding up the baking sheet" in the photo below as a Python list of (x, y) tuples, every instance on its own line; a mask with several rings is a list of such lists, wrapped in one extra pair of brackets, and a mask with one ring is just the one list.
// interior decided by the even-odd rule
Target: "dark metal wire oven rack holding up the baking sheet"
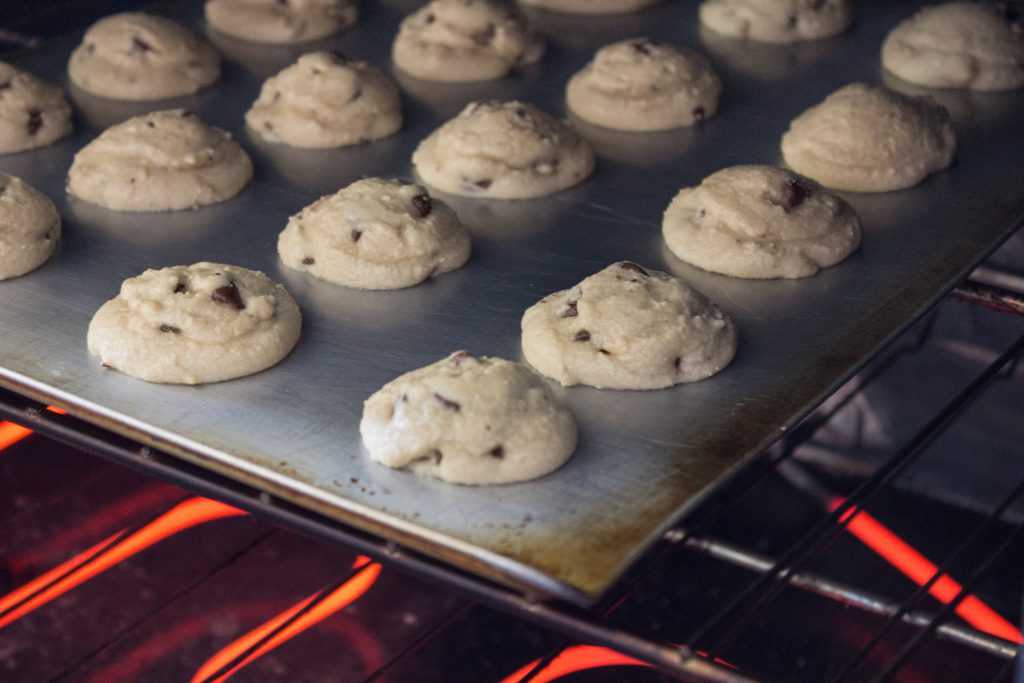
[[(1024, 297), (1018, 292), (988, 284), (1016, 285), (1009, 273), (991, 267), (979, 269), (979, 279), (968, 280), (956, 287), (950, 297), (972, 302), (1000, 311), (1024, 314)], [(985, 282), (980, 282), (984, 280)], [(932, 316), (934, 317), (933, 310)], [(1024, 523), (1010, 524), (994, 552), (976, 566), (973, 573), (963, 578), (963, 584), (947, 604), (938, 610), (921, 606), (937, 582), (947, 574), (945, 570), (980, 537), (990, 532), (997, 524), (1007, 524), (1004, 512), (1024, 495), (1024, 480), (1017, 485), (983, 517), (951, 553), (939, 564), (930, 580), (920, 586), (904, 600), (896, 602), (873, 595), (856, 586), (846, 585), (818, 575), (804, 567), (817, 552), (836, 540), (856, 512), (864, 509), (873, 496), (905, 471), (925, 452), (957, 416), (998, 377), (1012, 373), (1024, 350), (1024, 336), (1018, 338), (959, 393), (938, 412), (912, 438), (897, 449), (892, 457), (847, 495), (838, 505), (831, 506), (817, 523), (803, 535), (785, 552), (768, 556), (735, 543), (717, 539), (709, 532), (713, 522), (738, 505), (760, 482), (778, 474), (811, 498), (824, 500), (830, 494), (807, 473), (795, 458), (798, 447), (806, 443), (818, 429), (825, 425), (847, 402), (898, 358), (913, 353), (927, 341), (931, 333), (930, 319), (920, 331), (880, 354), (861, 375), (851, 380), (835, 395), (826, 410), (819, 410), (805, 419), (780, 441), (767, 450), (751, 467), (740, 472), (734, 480), (721, 487), (693, 515), (667, 532), (647, 555), (621, 582), (617, 589), (591, 610), (585, 610), (559, 601), (541, 601), (534, 596), (520, 595), (507, 588), (473, 577), (459, 569), (445, 566), (419, 553), (401, 548), (336, 520), (316, 515), (308, 510), (279, 500), (265, 492), (234, 482), (226, 477), (203, 470), (168, 454), (141, 445), (130, 439), (108, 432), (69, 415), (45, 410), (45, 405), (7, 390), (0, 390), (0, 415), (25, 424), (57, 440), (95, 453), (128, 465), (144, 473), (169, 480), (201, 495), (221, 500), (248, 510), (272, 522), (299, 532), (342, 544), (373, 556), (385, 564), (397, 566), (428, 581), (441, 583), (466, 593), (482, 603), (513, 613), (527, 621), (551, 628), (563, 634), (565, 642), (542, 658), (524, 681), (546, 667), (564, 647), (573, 641), (602, 645), (654, 665), (667, 675), (681, 680), (744, 681), (764, 680), (757, 672), (742, 673), (726, 666), (718, 658), (724, 648), (737, 638), (743, 628), (761, 614), (772, 600), (785, 588), (793, 587), (835, 600), (844, 605), (879, 615), (885, 620), (881, 629), (834, 679), (863, 680), (851, 675), (858, 665), (897, 624), (912, 627), (914, 635), (903, 648), (891, 657), (884, 671), (869, 680), (892, 677), (933, 636), (958, 643), (984, 652), (1005, 666), (995, 680), (1010, 680), (1014, 663), (1019, 657), (1020, 646), (1010, 640), (990, 635), (966, 624), (951, 623), (955, 608), (971, 595), (972, 587), (984, 577), (986, 570), (1000, 561), (1009, 548), (1021, 537)], [(616, 623), (615, 610), (640, 589), (663, 563), (674, 554), (695, 552), (718, 561), (750, 570), (754, 580), (731, 596), (717, 613), (707, 620), (685, 640), (685, 644), (667, 642), (651, 637), (641, 630)]]

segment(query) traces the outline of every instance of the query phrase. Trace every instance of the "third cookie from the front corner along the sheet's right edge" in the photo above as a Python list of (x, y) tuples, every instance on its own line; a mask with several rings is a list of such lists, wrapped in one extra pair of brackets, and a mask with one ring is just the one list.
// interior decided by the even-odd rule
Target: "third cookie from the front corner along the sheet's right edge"
[(807, 278), (860, 244), (849, 204), (818, 183), (770, 166), (733, 166), (681, 189), (665, 212), (672, 253), (735, 278)]

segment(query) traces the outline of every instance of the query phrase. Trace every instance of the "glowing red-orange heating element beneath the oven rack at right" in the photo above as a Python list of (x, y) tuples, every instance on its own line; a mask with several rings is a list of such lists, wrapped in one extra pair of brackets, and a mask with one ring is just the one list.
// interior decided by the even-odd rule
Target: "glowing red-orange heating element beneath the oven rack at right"
[[(834, 511), (842, 504), (843, 499), (835, 497), (828, 501), (828, 509)], [(853, 519), (850, 519), (851, 516)], [(927, 584), (938, 571), (939, 568), (927, 557), (863, 510), (849, 510), (841, 521), (847, 519), (850, 519), (847, 529), (851, 533), (919, 586)], [(949, 574), (942, 574), (928, 592), (943, 604), (949, 604), (962, 588)], [(956, 605), (956, 613), (979, 631), (1015, 643), (1024, 643), (1024, 635), (1017, 627), (973, 595), (967, 596)]]

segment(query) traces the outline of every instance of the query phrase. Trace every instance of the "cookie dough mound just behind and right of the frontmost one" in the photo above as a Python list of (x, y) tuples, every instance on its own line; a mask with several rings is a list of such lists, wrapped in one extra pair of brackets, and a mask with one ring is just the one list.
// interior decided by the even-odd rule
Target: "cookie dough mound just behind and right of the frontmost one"
[(565, 386), (660, 389), (725, 368), (736, 329), (682, 281), (621, 261), (527, 308), (522, 352)]

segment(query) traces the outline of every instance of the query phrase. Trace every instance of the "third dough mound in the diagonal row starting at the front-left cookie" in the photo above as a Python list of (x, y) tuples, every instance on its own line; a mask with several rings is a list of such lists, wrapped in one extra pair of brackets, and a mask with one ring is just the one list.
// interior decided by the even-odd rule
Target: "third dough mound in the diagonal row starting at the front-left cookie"
[(526, 199), (570, 187), (594, 170), (574, 128), (523, 102), (472, 102), (413, 153), (431, 187), (467, 197)]

